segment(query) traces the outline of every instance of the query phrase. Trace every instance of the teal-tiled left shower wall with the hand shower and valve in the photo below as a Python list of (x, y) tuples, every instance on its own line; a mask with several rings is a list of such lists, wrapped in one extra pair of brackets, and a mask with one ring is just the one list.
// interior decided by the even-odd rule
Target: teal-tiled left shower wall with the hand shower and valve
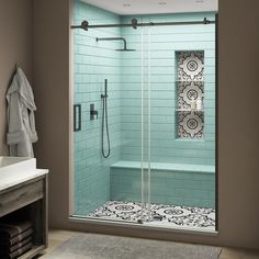
[[(75, 24), (88, 20), (91, 24), (120, 23), (120, 16), (75, 1)], [(117, 42), (99, 42), (95, 37), (117, 37), (120, 29), (74, 31), (75, 104), (81, 104), (82, 128), (74, 134), (75, 159), (75, 214), (88, 212), (110, 200), (110, 165), (119, 160), (120, 124), (120, 53)], [(101, 123), (104, 79), (108, 79), (108, 110), (111, 156), (101, 155)], [(99, 112), (98, 120), (90, 120), (90, 104)], [(106, 147), (106, 145), (105, 145)]]

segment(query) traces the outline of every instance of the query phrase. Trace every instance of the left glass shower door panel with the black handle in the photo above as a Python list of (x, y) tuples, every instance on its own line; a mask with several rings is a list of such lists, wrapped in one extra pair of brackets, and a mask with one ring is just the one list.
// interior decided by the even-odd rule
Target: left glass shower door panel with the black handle
[[(75, 24), (121, 16), (75, 1)], [(142, 213), (140, 30), (74, 31), (74, 215), (136, 222)]]

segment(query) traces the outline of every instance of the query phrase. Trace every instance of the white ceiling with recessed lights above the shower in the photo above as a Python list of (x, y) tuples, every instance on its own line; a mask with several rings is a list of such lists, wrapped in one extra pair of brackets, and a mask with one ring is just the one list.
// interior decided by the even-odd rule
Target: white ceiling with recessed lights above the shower
[(117, 14), (217, 11), (218, 0), (82, 0)]

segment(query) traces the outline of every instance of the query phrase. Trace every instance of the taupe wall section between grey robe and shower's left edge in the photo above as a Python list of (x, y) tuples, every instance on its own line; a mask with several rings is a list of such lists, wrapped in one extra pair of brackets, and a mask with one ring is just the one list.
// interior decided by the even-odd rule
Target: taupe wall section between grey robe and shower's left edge
[(52, 226), (67, 227), (69, 168), (69, 1), (34, 0), (37, 165), (49, 168)]

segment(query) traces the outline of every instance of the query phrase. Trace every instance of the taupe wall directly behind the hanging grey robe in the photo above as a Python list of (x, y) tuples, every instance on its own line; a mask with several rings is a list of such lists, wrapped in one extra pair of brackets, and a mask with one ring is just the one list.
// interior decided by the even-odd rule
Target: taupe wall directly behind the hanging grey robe
[(33, 0), (0, 0), (0, 156), (5, 146), (5, 92), (19, 61), (32, 81)]

